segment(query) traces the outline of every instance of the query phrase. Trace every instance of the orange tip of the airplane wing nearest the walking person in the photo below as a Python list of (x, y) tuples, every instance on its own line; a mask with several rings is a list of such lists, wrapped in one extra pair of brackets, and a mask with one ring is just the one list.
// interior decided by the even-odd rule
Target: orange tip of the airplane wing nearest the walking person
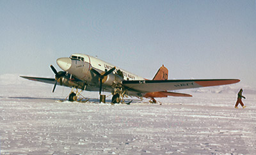
[(209, 86), (217, 86), (217, 85), (227, 85), (227, 84), (236, 84), (240, 82), (239, 79), (221, 79), (221, 80), (202, 80), (196, 81), (196, 84), (202, 85), (202, 87), (209, 87)]

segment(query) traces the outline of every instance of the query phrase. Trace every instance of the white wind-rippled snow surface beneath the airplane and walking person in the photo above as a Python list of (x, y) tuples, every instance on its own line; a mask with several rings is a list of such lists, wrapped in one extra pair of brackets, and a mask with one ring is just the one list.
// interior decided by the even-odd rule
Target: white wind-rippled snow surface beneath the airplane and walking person
[(58, 101), (68, 88), (52, 93), (53, 85), (6, 77), (0, 76), (1, 154), (256, 152), (256, 95), (246, 90), (244, 109), (234, 108), (237, 92), (227, 87), (193, 89), (193, 98), (161, 98), (163, 105), (72, 103)]

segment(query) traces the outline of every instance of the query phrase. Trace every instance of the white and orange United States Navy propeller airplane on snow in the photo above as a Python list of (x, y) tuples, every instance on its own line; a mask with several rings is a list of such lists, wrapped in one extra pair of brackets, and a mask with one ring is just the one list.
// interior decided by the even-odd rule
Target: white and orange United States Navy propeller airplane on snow
[[(128, 96), (134, 96), (141, 100), (148, 98), (151, 103), (156, 103), (155, 98), (166, 98), (168, 96), (191, 97), (190, 94), (170, 91), (240, 82), (239, 79), (168, 80), (168, 69), (164, 65), (159, 68), (152, 80), (148, 80), (86, 54), (72, 54), (70, 57), (61, 57), (56, 60), (56, 63), (63, 71), (56, 71), (54, 66), (51, 65), (55, 78), (20, 77), (54, 84), (52, 92), (55, 91), (56, 85), (81, 89), (81, 91), (99, 91), (100, 98), (104, 96), (101, 94), (102, 91), (111, 92), (113, 95), (111, 103), (120, 103), (121, 100), (124, 100), (124, 97)], [(80, 94), (79, 92), (73, 92), (73, 89), (68, 95), (68, 101), (76, 101)]]

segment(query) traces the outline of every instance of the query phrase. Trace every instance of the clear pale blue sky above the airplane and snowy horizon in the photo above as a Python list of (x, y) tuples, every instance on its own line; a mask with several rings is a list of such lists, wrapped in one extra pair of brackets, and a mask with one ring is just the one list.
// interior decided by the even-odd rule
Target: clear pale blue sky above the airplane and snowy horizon
[(255, 50), (255, 1), (0, 0), (1, 74), (53, 76), (83, 53), (145, 78), (164, 64), (169, 79), (256, 87)]

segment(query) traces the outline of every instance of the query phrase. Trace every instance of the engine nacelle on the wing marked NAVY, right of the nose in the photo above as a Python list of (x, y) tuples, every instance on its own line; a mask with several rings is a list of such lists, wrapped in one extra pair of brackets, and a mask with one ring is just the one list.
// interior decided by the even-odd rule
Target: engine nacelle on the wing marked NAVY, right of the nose
[(122, 84), (123, 80), (124, 78), (120, 77), (119, 75), (111, 73), (108, 76), (103, 78), (102, 84), (109, 85), (109, 86), (116, 86), (118, 84)]

